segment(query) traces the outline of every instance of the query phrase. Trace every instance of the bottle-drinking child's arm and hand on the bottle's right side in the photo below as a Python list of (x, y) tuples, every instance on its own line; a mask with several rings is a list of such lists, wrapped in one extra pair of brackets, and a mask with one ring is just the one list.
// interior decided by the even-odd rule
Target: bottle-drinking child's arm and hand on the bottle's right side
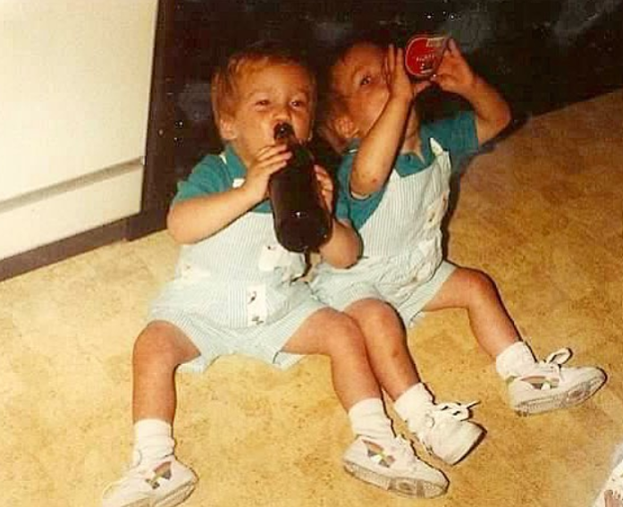
[[(333, 180), (326, 171), (316, 165), (316, 176), (320, 183), (325, 205), (333, 208)], [(320, 247), (320, 255), (332, 266), (349, 267), (361, 255), (361, 240), (358, 233), (347, 223), (333, 216), (333, 231), (329, 241)]]

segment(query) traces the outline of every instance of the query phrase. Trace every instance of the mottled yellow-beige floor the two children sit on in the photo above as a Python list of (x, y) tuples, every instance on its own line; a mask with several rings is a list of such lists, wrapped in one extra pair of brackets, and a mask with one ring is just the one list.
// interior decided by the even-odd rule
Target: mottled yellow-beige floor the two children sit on
[[(99, 505), (130, 453), (130, 350), (172, 274), (164, 232), (0, 283), (0, 506)], [(417, 501), (341, 470), (347, 419), (326, 359), (283, 373), (242, 358), (180, 376), (188, 507), (586, 507), (623, 439), (623, 92), (531, 119), (463, 177), (450, 258), (481, 266), (540, 355), (569, 346), (610, 378), (594, 399), (518, 418), (469, 333), (444, 311), (409, 334), (446, 400), (478, 399), (488, 435), (449, 493)]]

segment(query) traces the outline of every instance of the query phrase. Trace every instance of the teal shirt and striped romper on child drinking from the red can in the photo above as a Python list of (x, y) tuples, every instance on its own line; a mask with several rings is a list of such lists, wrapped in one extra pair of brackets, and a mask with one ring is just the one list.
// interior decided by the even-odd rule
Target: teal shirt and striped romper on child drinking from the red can
[(448, 209), (452, 164), (478, 148), (471, 112), (420, 128), (422, 158), (401, 154), (382, 190), (366, 199), (349, 192), (357, 146), (344, 157), (338, 177), (338, 207), (346, 207), (364, 243), (358, 264), (338, 269), (316, 266), (312, 290), (339, 310), (373, 298), (391, 304), (405, 325), (434, 298), (455, 266), (442, 258), (442, 219)]

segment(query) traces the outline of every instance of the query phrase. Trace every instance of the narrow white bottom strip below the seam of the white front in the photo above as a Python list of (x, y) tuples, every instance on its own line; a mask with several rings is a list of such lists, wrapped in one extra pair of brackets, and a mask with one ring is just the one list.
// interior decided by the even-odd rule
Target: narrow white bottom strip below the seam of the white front
[(143, 171), (137, 160), (0, 202), (0, 259), (139, 213)]

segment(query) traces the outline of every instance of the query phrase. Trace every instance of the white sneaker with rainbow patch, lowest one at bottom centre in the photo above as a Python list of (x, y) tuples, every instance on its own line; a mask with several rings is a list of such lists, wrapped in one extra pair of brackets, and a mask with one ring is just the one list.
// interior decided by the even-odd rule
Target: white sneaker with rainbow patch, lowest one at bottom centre
[(344, 453), (343, 462), (353, 476), (393, 493), (433, 498), (448, 489), (442, 472), (417, 459), (400, 436), (383, 443), (358, 436)]

